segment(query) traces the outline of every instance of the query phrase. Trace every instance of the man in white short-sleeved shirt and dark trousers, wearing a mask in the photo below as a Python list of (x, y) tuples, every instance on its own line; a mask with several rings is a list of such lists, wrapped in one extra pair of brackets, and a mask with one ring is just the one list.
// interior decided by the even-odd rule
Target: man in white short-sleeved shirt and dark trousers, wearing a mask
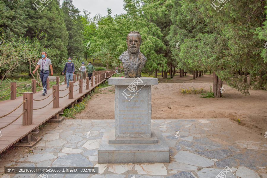
[(42, 96), (45, 96), (46, 93), (46, 88), (47, 88), (47, 78), (49, 76), (49, 67), (51, 70), (51, 75), (53, 75), (53, 67), (52, 67), (52, 63), (51, 60), (48, 59), (47, 57), (47, 53), (45, 51), (42, 52), (42, 59), (39, 59), (36, 68), (34, 69), (34, 71), (32, 72), (33, 74), (38, 70), (38, 68), (41, 66), (41, 71), (40, 71), (40, 78), (42, 81), (42, 86), (43, 86), (43, 93)]

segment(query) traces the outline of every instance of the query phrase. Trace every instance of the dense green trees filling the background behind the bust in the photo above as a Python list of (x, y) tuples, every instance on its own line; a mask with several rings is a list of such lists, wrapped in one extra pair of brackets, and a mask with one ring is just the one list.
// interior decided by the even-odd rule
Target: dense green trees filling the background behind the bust
[[(111, 9), (104, 17), (90, 17), (85, 10), (80, 15), (72, 0), (64, 0), (62, 7), (59, 0), (41, 1), (48, 5), (0, 0), (1, 41), (23, 41), (27, 45), (15, 51), (29, 51), (18, 54), (16, 72), (33, 69), (42, 50), (48, 52), (55, 72), (69, 56), (78, 61), (100, 58), (113, 68), (127, 50), (128, 32), (139, 31), (141, 52), (148, 59), (143, 70), (155, 77), (157, 72), (173, 77), (177, 69), (180, 77), (186, 71), (194, 78), (213, 71), (215, 97), (221, 96), (222, 80), (245, 94), (250, 88), (267, 87), (266, 1), (124, 0), (126, 13), (114, 17)], [(40, 7), (34, 7), (35, 2)], [(8, 55), (3, 49), (1, 55)], [(2, 77), (12, 65), (0, 64)]]

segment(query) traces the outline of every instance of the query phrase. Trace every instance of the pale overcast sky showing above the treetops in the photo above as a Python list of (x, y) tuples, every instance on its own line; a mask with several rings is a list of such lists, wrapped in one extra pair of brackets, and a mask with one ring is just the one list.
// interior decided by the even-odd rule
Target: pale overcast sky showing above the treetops
[[(62, 3), (63, 0), (60, 0), (61, 5)], [(96, 14), (107, 15), (107, 8), (111, 9), (112, 16), (119, 15), (121, 12), (125, 13), (123, 0), (73, 0), (72, 4), (81, 11), (81, 15), (83, 15), (83, 9), (91, 12), (91, 17)]]

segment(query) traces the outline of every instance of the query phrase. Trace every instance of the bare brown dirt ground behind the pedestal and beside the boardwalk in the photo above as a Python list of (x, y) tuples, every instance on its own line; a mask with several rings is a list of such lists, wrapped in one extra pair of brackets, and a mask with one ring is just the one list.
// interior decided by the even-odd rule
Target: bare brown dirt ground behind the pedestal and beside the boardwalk
[[(187, 74), (186, 77), (174, 79), (159, 79), (159, 85), (152, 86), (152, 120), (153, 119), (182, 119), (182, 118), (230, 118), (246, 129), (249, 133), (263, 136), (267, 131), (267, 91), (251, 90), (250, 95), (243, 95), (223, 82), (222, 98), (200, 98), (199, 94), (182, 94), (180, 89), (204, 88), (208, 91), (212, 86), (212, 75), (204, 75), (196, 80)], [(95, 93), (85, 110), (76, 115), (79, 119), (114, 119), (115, 87), (102, 88)], [(215, 120), (215, 119), (214, 119)], [(230, 124), (230, 123), (229, 123)], [(49, 123), (39, 129), (37, 137), (43, 137), (47, 131), (57, 127)], [(227, 123), (225, 123), (225, 126)], [(229, 133), (236, 132), (234, 128)], [(218, 133), (225, 128), (218, 127)], [(244, 135), (243, 135), (244, 136)], [(243, 138), (242, 134), (240, 139)], [(236, 135), (239, 137), (239, 134)], [(238, 139), (238, 138), (237, 138)], [(264, 136), (263, 136), (264, 139)], [(34, 148), (31, 148), (34, 149)], [(0, 168), (16, 161), (18, 155), (28, 152), (27, 147), (10, 147), (0, 154)], [(16, 166), (16, 165), (13, 165)], [(1, 171), (0, 171), (1, 172)], [(0, 174), (1, 175), (1, 174)]]

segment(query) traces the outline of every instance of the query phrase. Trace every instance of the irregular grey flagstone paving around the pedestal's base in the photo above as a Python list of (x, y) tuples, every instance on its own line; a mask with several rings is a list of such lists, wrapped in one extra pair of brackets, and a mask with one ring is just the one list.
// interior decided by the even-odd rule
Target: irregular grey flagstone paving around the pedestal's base
[[(225, 131), (217, 133), (218, 127)], [(239, 139), (228, 134), (227, 130), (233, 128), (240, 134)], [(252, 132), (227, 118), (152, 120), (152, 130), (160, 131), (169, 146), (170, 163), (98, 164), (98, 148), (106, 146), (101, 141), (108, 141), (103, 134), (109, 129), (114, 129), (114, 120), (64, 120), (53, 131), (47, 131), (33, 153), (18, 155), (1, 166), (99, 168), (99, 174), (49, 174), (48, 178), (215, 178), (226, 166), (232, 170), (226, 178), (267, 177), (267, 139), (250, 139)], [(91, 135), (87, 136), (89, 131)], [(17, 177), (38, 175), (0, 173), (0, 178)]]

